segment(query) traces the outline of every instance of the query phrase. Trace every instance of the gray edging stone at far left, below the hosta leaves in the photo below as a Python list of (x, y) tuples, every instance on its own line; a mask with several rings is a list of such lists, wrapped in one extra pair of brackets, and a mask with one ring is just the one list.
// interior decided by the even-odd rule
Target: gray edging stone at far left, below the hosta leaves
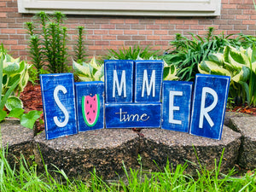
[(1, 123), (2, 147), (8, 148), (9, 164), (14, 166), (23, 154), (26, 160), (31, 161), (33, 155), (34, 132), (22, 125), (20, 120), (7, 119)]

